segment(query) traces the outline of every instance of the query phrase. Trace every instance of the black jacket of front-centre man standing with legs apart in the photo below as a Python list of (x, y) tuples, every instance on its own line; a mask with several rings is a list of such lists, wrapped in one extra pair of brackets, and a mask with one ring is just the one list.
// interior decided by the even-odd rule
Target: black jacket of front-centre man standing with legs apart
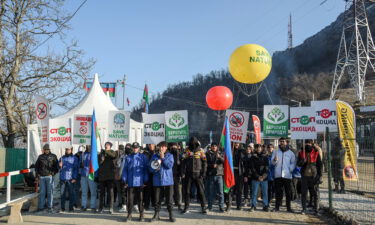
[(193, 151), (186, 149), (182, 160), (182, 175), (206, 176), (207, 160), (201, 148)]

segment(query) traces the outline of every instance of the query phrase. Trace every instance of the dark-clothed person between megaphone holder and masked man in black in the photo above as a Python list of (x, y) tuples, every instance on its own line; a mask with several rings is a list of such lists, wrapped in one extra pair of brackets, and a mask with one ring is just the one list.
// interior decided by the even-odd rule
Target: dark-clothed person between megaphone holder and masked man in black
[(173, 155), (173, 200), (174, 204), (181, 210), (182, 205), (182, 183), (181, 183), (181, 153), (175, 142), (169, 143), (169, 152)]

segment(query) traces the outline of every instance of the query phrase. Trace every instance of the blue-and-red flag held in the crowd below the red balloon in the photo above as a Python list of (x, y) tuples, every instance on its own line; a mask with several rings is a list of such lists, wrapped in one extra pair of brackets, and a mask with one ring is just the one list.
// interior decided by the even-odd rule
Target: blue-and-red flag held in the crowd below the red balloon
[(223, 132), (221, 133), (220, 145), (224, 147), (224, 192), (228, 193), (230, 188), (235, 185), (233, 172), (233, 157), (230, 147), (229, 122), (225, 117)]

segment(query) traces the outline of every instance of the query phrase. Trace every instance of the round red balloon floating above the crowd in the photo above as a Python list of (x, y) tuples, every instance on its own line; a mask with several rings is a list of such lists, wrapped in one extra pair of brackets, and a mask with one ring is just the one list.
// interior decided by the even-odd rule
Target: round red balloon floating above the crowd
[(213, 110), (226, 110), (233, 102), (232, 91), (225, 86), (215, 86), (206, 94), (208, 107)]

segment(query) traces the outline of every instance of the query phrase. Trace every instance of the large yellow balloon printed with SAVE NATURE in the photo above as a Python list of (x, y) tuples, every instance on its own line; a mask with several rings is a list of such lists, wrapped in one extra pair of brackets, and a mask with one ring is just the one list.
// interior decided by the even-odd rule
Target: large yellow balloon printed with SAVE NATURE
[(230, 56), (229, 72), (241, 83), (256, 84), (271, 72), (272, 57), (268, 51), (257, 44), (242, 45)]

